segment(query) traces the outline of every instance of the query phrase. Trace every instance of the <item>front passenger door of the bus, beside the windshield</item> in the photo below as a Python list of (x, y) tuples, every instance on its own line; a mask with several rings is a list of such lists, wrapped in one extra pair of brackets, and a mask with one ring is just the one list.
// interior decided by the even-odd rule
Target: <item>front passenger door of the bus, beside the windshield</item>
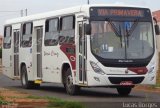
[(84, 34), (84, 22), (80, 21), (78, 22), (78, 37), (77, 37), (77, 45), (76, 45), (76, 52), (78, 52), (77, 55), (77, 72), (79, 76), (79, 84), (86, 85), (87, 84), (87, 38)]

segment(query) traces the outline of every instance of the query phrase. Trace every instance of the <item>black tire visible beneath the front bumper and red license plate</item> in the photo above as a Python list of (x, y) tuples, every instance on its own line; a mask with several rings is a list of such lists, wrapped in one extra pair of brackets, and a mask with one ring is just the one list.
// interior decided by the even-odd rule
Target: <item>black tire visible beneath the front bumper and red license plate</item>
[(132, 87), (118, 87), (117, 91), (120, 96), (128, 96), (131, 93)]

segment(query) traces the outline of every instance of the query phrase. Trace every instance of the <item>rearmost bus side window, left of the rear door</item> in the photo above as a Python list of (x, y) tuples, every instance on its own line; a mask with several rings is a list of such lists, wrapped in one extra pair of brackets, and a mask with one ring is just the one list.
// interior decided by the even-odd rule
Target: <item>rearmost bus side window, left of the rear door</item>
[(12, 27), (6, 26), (4, 28), (4, 41), (3, 41), (4, 49), (11, 48), (11, 35), (12, 35)]

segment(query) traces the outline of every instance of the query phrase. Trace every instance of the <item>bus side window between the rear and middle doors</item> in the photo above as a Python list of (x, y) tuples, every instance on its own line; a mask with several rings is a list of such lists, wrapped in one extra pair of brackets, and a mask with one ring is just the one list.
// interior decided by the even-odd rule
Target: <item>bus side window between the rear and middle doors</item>
[(31, 47), (32, 45), (32, 23), (25, 23), (23, 24), (23, 31), (22, 31), (22, 40), (21, 46), (22, 47)]

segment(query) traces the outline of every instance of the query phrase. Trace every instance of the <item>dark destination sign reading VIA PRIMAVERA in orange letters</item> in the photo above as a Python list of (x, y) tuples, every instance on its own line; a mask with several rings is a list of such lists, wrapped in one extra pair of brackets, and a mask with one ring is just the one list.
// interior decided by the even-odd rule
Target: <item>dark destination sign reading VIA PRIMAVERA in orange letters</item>
[(91, 16), (99, 16), (99, 17), (145, 17), (150, 16), (150, 11), (148, 9), (141, 8), (91, 8), (90, 9)]

